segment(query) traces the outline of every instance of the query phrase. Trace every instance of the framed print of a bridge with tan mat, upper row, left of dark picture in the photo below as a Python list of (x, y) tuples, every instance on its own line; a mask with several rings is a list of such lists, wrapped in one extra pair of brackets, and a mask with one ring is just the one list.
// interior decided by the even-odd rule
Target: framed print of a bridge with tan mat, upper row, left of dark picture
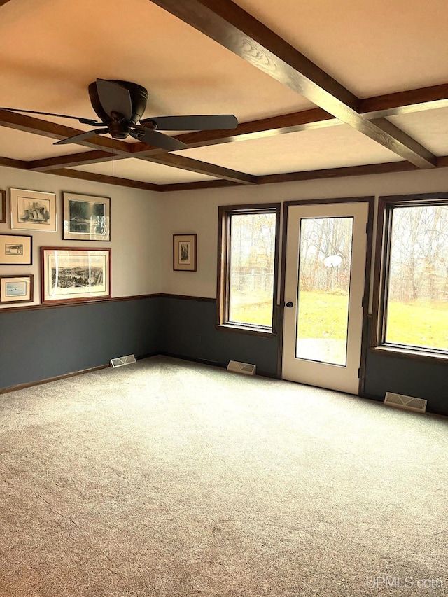
[(10, 189), (11, 228), (56, 232), (57, 213), (54, 192)]

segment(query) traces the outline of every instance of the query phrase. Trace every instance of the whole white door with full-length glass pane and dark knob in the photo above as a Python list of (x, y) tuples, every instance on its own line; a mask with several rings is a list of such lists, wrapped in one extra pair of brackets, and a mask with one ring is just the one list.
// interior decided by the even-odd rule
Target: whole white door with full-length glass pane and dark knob
[(286, 204), (283, 379), (358, 393), (372, 207), (371, 197)]

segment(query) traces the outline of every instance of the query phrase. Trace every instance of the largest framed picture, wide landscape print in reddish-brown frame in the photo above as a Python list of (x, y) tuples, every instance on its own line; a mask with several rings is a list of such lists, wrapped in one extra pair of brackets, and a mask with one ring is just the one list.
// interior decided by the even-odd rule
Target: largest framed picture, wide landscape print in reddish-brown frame
[(42, 302), (111, 298), (111, 249), (41, 247)]

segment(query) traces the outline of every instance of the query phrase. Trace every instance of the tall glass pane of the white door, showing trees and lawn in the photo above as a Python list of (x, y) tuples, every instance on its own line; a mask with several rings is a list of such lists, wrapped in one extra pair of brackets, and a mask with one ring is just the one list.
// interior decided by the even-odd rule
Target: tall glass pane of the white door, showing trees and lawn
[(353, 218), (302, 218), (295, 356), (346, 365)]

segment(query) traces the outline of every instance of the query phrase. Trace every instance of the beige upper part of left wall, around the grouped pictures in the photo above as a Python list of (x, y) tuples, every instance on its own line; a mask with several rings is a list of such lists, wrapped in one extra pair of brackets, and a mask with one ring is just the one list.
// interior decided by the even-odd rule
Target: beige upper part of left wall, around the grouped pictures
[[(11, 230), (10, 188), (55, 192), (57, 232)], [(7, 223), (0, 224), (0, 234), (33, 236), (33, 265), (0, 265), (0, 276), (34, 274), (34, 304), (41, 300), (41, 246), (111, 247), (113, 297), (160, 292), (160, 194), (4, 167), (0, 167), (0, 189), (7, 191)], [(111, 197), (111, 242), (62, 240), (63, 191)], [(12, 304), (10, 307), (18, 305)], [(0, 309), (10, 307), (0, 305)]]

